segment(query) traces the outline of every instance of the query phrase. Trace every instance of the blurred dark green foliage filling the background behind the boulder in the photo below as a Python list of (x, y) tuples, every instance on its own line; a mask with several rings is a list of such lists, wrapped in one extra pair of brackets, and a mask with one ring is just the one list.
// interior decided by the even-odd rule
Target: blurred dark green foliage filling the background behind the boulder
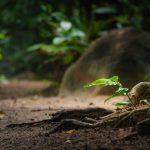
[(1, 0), (0, 10), (0, 71), (10, 75), (32, 71), (61, 79), (97, 37), (150, 25), (148, 0)]

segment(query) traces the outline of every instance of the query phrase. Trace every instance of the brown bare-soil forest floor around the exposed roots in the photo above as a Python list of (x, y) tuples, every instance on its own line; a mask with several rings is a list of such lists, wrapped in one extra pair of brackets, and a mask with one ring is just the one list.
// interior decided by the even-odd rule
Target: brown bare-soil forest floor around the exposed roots
[[(124, 98), (104, 104), (106, 96), (44, 97), (41, 91), (48, 86), (47, 82), (40, 81), (0, 83), (1, 150), (150, 149), (149, 135), (129, 134), (133, 126), (68, 126), (68, 129), (50, 133), (63, 119), (99, 119), (111, 113), (109, 110), (115, 110), (113, 103)], [(62, 110), (66, 110), (67, 115)], [(52, 114), (58, 111), (64, 116), (52, 121)]]

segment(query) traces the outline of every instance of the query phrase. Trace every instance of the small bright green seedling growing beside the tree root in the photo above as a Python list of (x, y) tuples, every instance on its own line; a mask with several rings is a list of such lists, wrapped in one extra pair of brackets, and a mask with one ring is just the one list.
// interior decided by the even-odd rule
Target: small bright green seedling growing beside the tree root
[(98, 80), (95, 80), (89, 84), (86, 84), (84, 87), (91, 87), (91, 86), (100, 86), (100, 87), (104, 87), (104, 86), (117, 86), (117, 90), (111, 95), (109, 96), (105, 102), (111, 100), (112, 98), (114, 97), (117, 97), (117, 96), (127, 96), (128, 97), (128, 101), (123, 101), (123, 102), (119, 102), (119, 103), (116, 103), (115, 105), (118, 106), (118, 107), (123, 107), (123, 106), (134, 106), (134, 103), (133, 103), (133, 100), (130, 99), (130, 97), (128, 96), (128, 88), (124, 88), (122, 86), (122, 84), (119, 82), (119, 78), (118, 76), (113, 76), (111, 78), (101, 78), (101, 79), (98, 79)]

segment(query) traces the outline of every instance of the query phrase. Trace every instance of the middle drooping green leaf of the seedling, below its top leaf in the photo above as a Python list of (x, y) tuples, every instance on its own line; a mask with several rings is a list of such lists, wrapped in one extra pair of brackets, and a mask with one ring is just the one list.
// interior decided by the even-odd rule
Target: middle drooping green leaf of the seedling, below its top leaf
[(123, 88), (123, 87), (119, 87), (118, 90), (116, 90), (111, 96), (109, 96), (105, 102), (107, 102), (108, 100), (114, 98), (114, 97), (117, 97), (117, 96), (124, 96), (126, 95), (128, 91), (128, 88)]

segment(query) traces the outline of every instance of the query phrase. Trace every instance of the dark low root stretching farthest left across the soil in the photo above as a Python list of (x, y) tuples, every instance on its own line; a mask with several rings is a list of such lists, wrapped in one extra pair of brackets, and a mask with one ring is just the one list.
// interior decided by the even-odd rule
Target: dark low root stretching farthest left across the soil
[[(9, 124), (7, 127), (16, 127), (16, 126), (37, 126), (42, 125), (43, 123), (51, 123), (51, 122), (60, 122), (61, 120), (65, 120), (67, 118), (71, 119), (79, 119), (85, 122), (94, 123), (97, 122), (96, 119), (99, 119), (101, 116), (105, 116), (113, 113), (111, 110), (106, 110), (104, 108), (88, 108), (88, 109), (76, 109), (76, 110), (61, 110), (54, 114), (52, 114), (52, 118), (37, 121), (37, 122), (28, 122), (28, 123), (20, 123), (20, 124)], [(94, 119), (91, 117), (95, 117)]]

